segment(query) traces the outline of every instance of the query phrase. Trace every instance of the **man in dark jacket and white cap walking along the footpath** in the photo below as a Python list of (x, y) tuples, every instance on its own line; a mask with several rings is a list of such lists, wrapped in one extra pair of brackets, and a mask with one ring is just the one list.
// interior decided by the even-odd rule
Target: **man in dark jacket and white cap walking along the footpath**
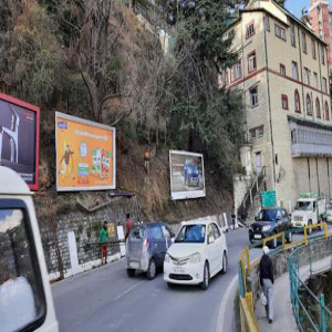
[(259, 263), (259, 272), (260, 272), (260, 284), (263, 288), (264, 295), (268, 300), (268, 304), (266, 305), (267, 317), (269, 319), (269, 323), (273, 322), (273, 267), (271, 258), (269, 257), (269, 248), (264, 246), (262, 248), (263, 256), (260, 259)]

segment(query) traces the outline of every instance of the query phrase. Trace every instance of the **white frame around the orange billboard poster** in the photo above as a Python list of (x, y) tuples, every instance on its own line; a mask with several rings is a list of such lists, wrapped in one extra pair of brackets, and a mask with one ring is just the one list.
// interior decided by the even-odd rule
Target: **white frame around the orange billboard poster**
[[(76, 123), (81, 123), (87, 126), (92, 126), (92, 127), (97, 127), (97, 128), (102, 128), (102, 129), (107, 129), (113, 132), (113, 185), (112, 186), (94, 186), (94, 187), (61, 187), (59, 188), (58, 186), (58, 177), (59, 177), (59, 172), (58, 172), (58, 129), (56, 129), (56, 120), (58, 118), (64, 118), (64, 120), (69, 120), (69, 121), (73, 121)], [(82, 117), (77, 117), (77, 116), (73, 116), (73, 115), (69, 115), (65, 113), (61, 113), (61, 112), (55, 112), (55, 169), (56, 169), (56, 191), (93, 191), (93, 190), (114, 190), (116, 189), (116, 128), (115, 127), (111, 127), (107, 126), (105, 124), (102, 123), (97, 123), (91, 120), (85, 120)]]

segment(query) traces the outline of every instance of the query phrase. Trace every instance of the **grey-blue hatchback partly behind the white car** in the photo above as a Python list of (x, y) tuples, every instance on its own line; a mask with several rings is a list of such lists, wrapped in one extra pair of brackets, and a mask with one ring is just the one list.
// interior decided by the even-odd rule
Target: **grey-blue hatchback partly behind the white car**
[(162, 221), (133, 226), (126, 242), (128, 277), (134, 277), (138, 270), (146, 272), (147, 279), (154, 279), (157, 269), (163, 267), (172, 236), (172, 230)]

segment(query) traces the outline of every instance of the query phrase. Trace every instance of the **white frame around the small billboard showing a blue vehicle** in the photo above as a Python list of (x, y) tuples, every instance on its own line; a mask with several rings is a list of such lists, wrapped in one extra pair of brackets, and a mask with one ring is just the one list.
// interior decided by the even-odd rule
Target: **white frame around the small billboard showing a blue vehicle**
[[(173, 193), (173, 176), (172, 176), (172, 155), (186, 155), (191, 157), (200, 157), (201, 158), (201, 172), (204, 178), (204, 189), (203, 190), (193, 190), (193, 191), (178, 191)], [(177, 151), (169, 149), (169, 183), (170, 183), (170, 199), (172, 200), (180, 200), (180, 199), (191, 199), (191, 198), (203, 198), (206, 197), (206, 188), (205, 188), (205, 170), (204, 170), (204, 155), (199, 153), (191, 153), (187, 151)]]

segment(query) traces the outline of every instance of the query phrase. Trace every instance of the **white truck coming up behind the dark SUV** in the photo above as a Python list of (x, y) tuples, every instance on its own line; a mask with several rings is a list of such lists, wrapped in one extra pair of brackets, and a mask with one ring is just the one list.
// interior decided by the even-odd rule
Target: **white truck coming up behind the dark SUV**
[[(326, 220), (325, 197), (315, 194), (305, 194), (297, 200), (295, 209), (292, 214), (292, 227), (301, 228), (309, 225), (321, 224)], [(312, 232), (312, 228), (308, 230)]]

